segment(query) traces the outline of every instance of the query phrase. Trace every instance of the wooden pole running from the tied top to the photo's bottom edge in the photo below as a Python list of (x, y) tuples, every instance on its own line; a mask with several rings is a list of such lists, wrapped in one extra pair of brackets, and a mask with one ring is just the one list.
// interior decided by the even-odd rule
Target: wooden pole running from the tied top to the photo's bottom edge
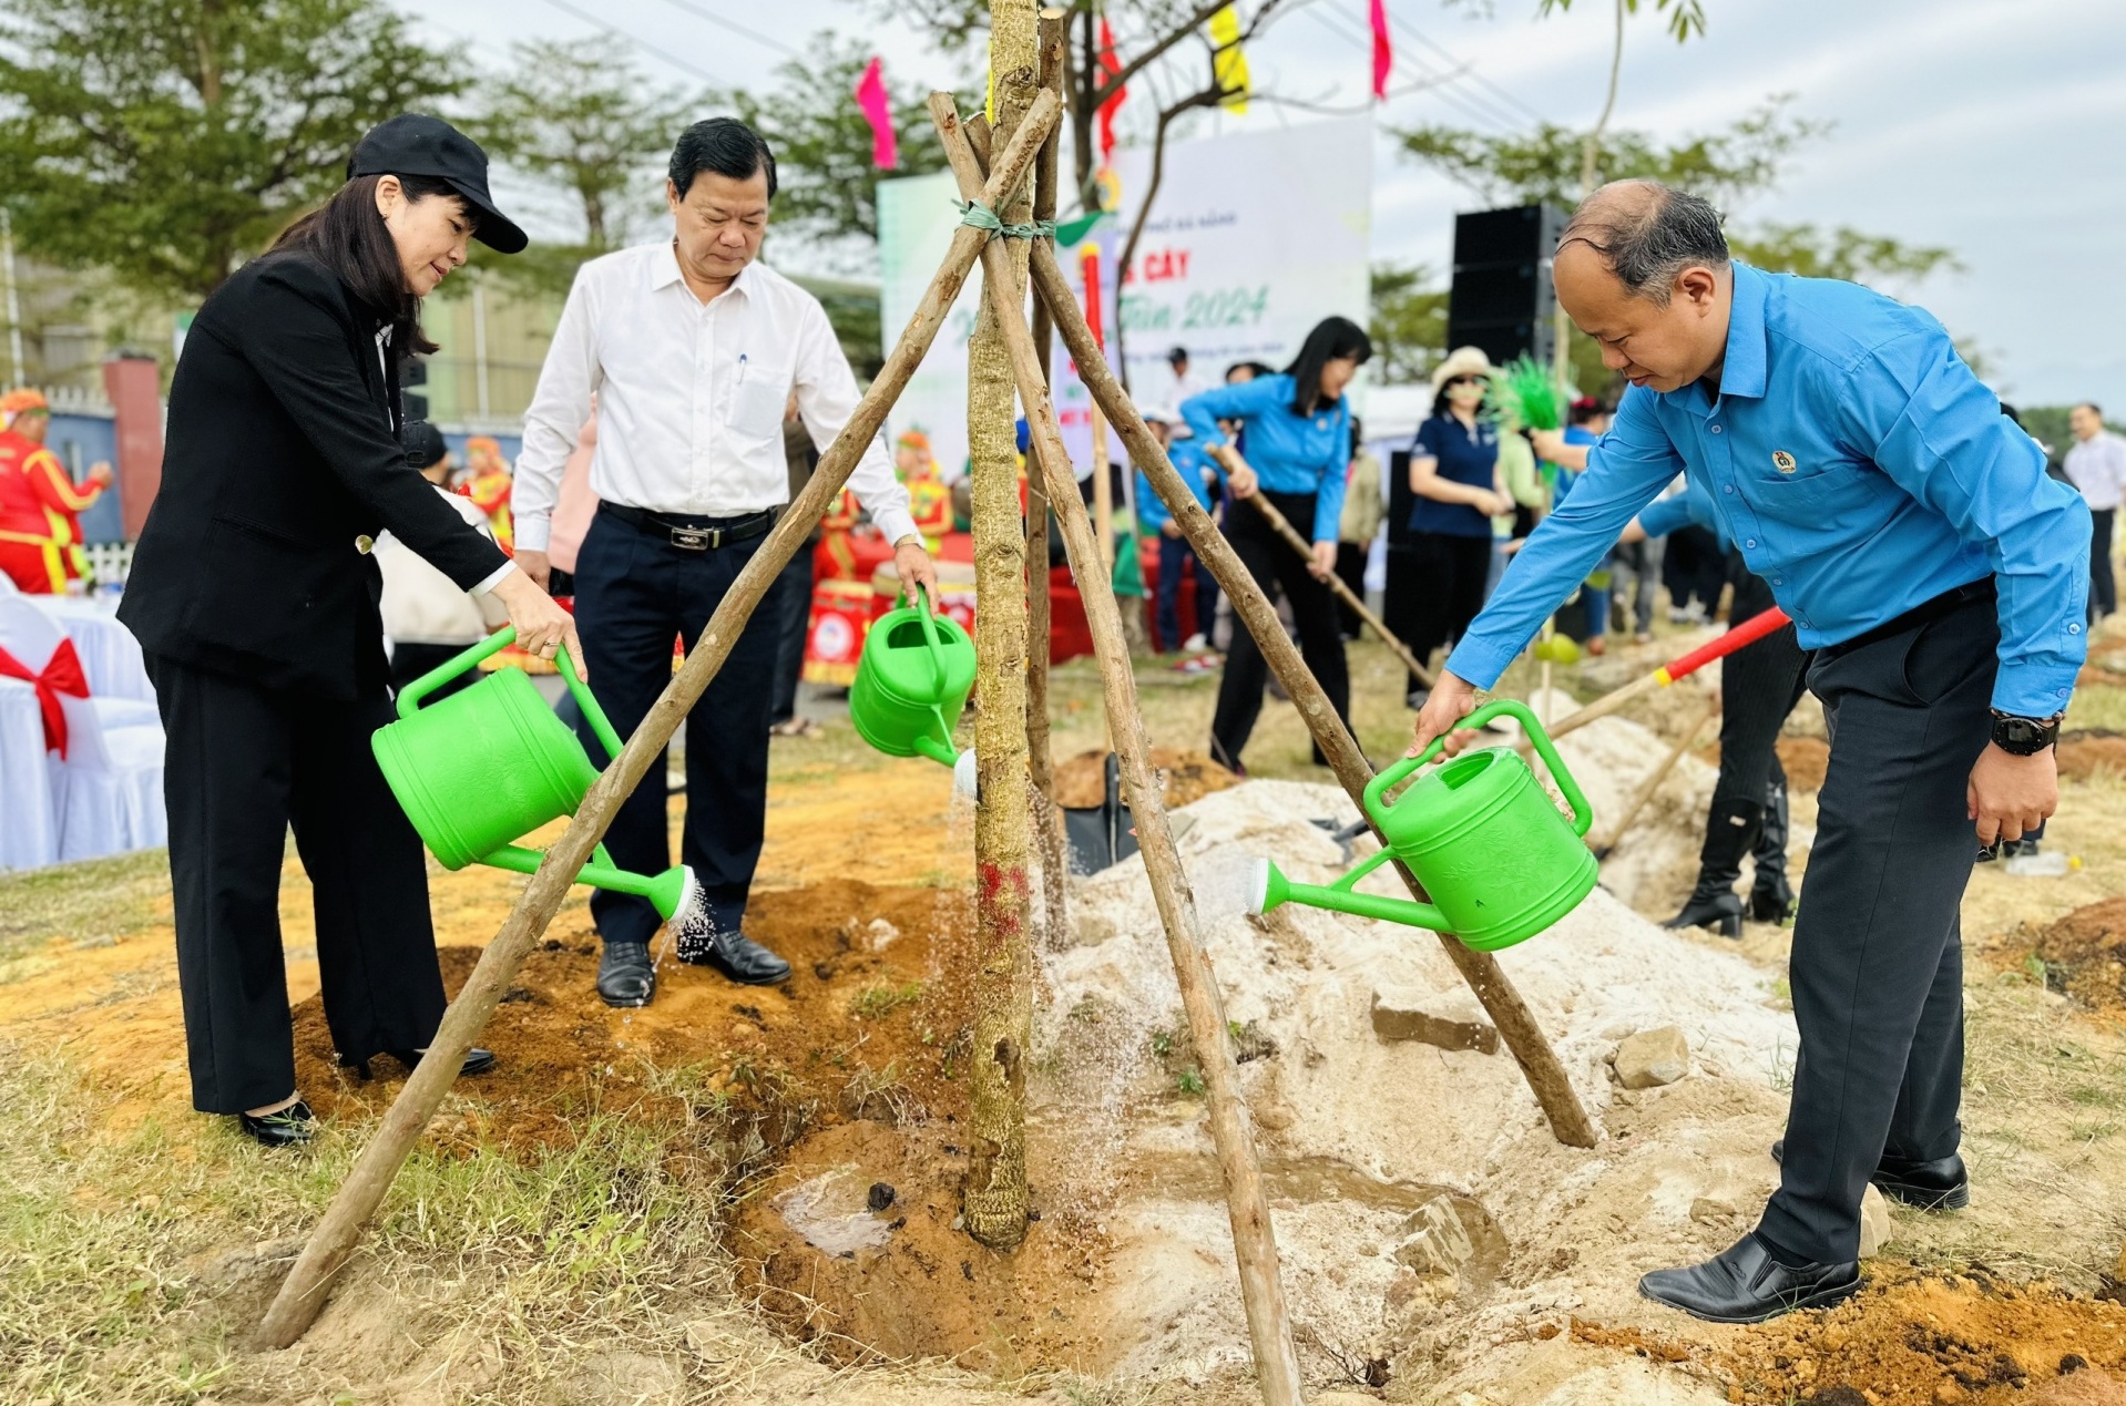
[[(965, 198), (980, 189), (982, 176), (974, 161), (974, 149), (967, 147), (959, 127), (952, 96), (931, 93), (929, 108)], [(1046, 248), (1042, 240), (1033, 244)], [(1048, 399), (1048, 384), (1042, 380), (1033, 333), (1027, 329), (1025, 310), (1012, 297), (1010, 253), (1001, 240), (982, 251), (982, 274), (991, 310), (1012, 353), (1018, 399), (1040, 446), (1033, 459), (1048, 476), (1057, 520), (1063, 527), (1063, 544), (1084, 597), (1086, 624), (1093, 629), (1093, 654), (1099, 661), (1108, 716), (1114, 720), (1123, 790), (1129, 796), (1129, 811), (1137, 824), (1137, 845), (1144, 854), (1144, 875), (1150, 879), (1152, 901), (1159, 905), (1167, 951), (1174, 958), (1174, 979), (1180, 985), (1188, 1032), (1203, 1066), (1212, 1145), (1218, 1153), (1218, 1168), (1225, 1172), (1227, 1213), (1233, 1223), (1233, 1253), (1239, 1262), (1239, 1296), (1248, 1315), (1256, 1383), (1269, 1406), (1299, 1406), (1299, 1353), (1293, 1347), (1293, 1325), (1284, 1306), (1284, 1281), (1278, 1272), (1278, 1245), (1269, 1225), (1263, 1170), (1254, 1155), (1254, 1130), (1248, 1121), (1248, 1104), (1239, 1094), (1239, 1066), (1233, 1062), (1227, 1036), (1225, 1000), (1218, 994), (1210, 956), (1203, 951), (1195, 896), (1188, 892), (1188, 875), (1182, 873), (1174, 830), (1167, 826), (1165, 796), (1159, 788), (1159, 775), (1152, 771), (1144, 714), (1137, 707), (1137, 678), (1129, 663), (1129, 644), (1123, 637), (1123, 607), (1114, 597), (1112, 576), (1099, 565), (1099, 539), (1086, 520), (1084, 503), (1078, 501), (1076, 480), (1063, 471), (1069, 457), (1063, 452), (1054, 406)]]

